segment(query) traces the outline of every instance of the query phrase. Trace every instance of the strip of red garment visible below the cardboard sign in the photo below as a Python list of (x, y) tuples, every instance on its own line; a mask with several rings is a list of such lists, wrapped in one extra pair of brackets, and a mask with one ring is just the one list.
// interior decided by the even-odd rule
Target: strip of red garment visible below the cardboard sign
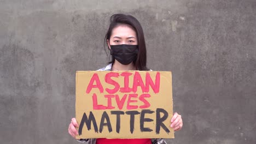
[(97, 139), (96, 144), (151, 144), (151, 139)]

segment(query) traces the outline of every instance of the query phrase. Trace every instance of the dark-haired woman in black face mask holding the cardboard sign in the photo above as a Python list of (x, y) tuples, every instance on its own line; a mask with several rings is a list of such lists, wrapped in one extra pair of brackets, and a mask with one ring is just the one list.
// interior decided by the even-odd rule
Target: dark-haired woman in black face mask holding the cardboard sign
[[(147, 52), (142, 27), (138, 20), (131, 15), (115, 14), (110, 17), (110, 25), (104, 39), (105, 44), (112, 55), (112, 62), (100, 71), (118, 70), (149, 70), (146, 67)], [(182, 128), (182, 118), (174, 113), (170, 127), (174, 131)], [(75, 118), (72, 118), (68, 127), (68, 133), (75, 137), (79, 127)], [(89, 143), (165, 143), (162, 139), (80, 139)]]

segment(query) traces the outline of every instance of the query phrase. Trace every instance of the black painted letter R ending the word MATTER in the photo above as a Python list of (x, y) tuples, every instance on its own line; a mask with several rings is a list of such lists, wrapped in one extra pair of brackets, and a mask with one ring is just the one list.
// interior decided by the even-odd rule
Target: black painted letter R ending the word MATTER
[[(160, 113), (164, 113), (164, 116), (160, 117)], [(160, 127), (162, 127), (166, 133), (170, 133), (170, 130), (165, 126), (164, 122), (165, 119), (168, 117), (168, 112), (164, 109), (156, 109), (156, 128), (155, 128), (155, 132), (156, 134), (159, 134), (160, 131)]]

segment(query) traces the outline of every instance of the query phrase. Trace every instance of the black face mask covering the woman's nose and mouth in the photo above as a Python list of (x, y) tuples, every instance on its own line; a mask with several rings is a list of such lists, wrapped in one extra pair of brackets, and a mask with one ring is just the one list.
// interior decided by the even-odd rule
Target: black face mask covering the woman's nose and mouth
[(110, 55), (127, 65), (137, 59), (138, 45), (110, 45)]

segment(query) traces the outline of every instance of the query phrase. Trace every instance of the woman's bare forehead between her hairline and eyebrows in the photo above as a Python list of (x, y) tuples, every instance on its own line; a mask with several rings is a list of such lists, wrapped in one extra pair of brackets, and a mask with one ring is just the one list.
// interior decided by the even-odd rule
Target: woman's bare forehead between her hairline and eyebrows
[(121, 24), (121, 25), (118, 25), (117, 27), (113, 28), (111, 36), (114, 37), (115, 35), (136, 37), (136, 32), (134, 31), (134, 29), (131, 26)]

